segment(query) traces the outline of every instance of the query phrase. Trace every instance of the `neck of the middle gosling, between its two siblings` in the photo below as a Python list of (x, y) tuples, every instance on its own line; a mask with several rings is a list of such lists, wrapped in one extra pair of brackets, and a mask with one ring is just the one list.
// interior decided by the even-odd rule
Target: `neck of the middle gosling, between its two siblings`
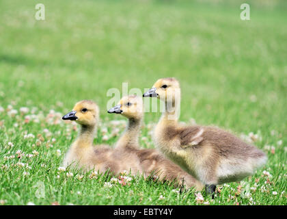
[(128, 118), (128, 126), (118, 140), (116, 148), (137, 148), (139, 145), (139, 131), (142, 118)]

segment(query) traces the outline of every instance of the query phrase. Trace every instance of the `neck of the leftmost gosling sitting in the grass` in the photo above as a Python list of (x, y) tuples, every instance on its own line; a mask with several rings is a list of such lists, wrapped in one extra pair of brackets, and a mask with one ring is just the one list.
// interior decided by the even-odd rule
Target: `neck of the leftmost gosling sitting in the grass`
[(83, 147), (92, 146), (95, 133), (96, 125), (81, 125), (77, 145)]

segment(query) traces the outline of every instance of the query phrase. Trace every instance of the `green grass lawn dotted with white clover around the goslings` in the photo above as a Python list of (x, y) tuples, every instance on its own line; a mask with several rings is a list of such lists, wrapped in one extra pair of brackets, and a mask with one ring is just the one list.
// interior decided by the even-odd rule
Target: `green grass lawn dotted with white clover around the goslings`
[[(284, 1), (250, 1), (250, 21), (241, 21), (240, 1), (42, 3), (45, 21), (34, 18), (35, 1), (0, 2), (1, 204), (286, 205)], [(194, 191), (178, 194), (142, 177), (109, 188), (109, 176), (87, 172), (79, 179), (76, 170), (58, 170), (77, 136), (77, 126), (61, 121), (74, 103), (98, 103), (102, 123), (95, 143), (112, 145), (124, 127), (112, 121), (123, 118), (106, 113), (107, 90), (121, 90), (122, 82), (143, 90), (160, 77), (181, 82), (180, 120), (194, 118), (247, 138), (257, 134), (254, 144), (267, 153), (267, 165), (241, 184), (219, 185), (215, 200), (204, 196), (204, 202)], [(158, 119), (146, 114), (143, 147), (154, 147), (148, 124)], [(115, 127), (120, 132), (111, 136)]]

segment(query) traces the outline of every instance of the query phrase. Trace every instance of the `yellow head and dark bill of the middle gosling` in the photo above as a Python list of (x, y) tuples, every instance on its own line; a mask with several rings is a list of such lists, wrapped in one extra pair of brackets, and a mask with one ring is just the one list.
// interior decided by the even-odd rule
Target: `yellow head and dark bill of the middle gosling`
[(143, 101), (139, 96), (124, 96), (115, 107), (108, 110), (109, 114), (122, 114), (126, 118), (139, 119), (143, 116)]

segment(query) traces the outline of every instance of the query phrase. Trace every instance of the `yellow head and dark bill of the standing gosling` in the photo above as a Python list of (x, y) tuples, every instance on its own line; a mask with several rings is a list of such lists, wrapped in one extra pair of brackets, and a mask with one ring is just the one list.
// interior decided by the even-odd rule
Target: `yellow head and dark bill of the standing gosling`
[(157, 97), (161, 101), (174, 103), (180, 97), (180, 84), (174, 77), (158, 79), (143, 97)]

